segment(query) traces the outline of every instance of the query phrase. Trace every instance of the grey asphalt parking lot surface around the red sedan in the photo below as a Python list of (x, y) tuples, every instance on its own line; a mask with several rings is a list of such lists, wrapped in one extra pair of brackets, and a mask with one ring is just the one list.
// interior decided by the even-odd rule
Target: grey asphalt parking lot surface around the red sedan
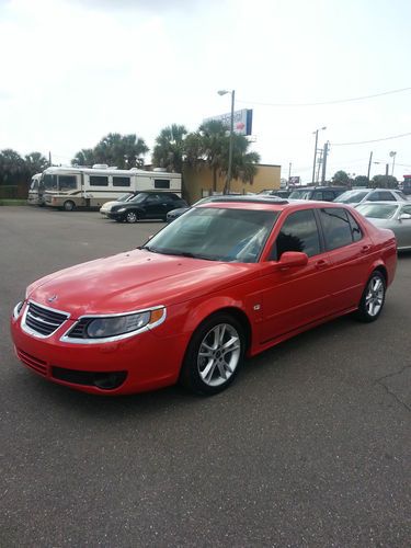
[(14, 357), (30, 282), (161, 227), (0, 208), (0, 546), (408, 547), (411, 254), (376, 323), (304, 333), (214, 398), (88, 396)]

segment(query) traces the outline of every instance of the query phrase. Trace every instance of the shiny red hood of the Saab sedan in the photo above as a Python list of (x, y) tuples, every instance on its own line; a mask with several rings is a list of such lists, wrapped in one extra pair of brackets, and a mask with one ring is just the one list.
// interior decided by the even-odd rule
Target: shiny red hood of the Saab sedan
[(254, 263), (222, 263), (134, 250), (71, 266), (27, 288), (27, 298), (73, 319), (170, 306), (255, 277)]

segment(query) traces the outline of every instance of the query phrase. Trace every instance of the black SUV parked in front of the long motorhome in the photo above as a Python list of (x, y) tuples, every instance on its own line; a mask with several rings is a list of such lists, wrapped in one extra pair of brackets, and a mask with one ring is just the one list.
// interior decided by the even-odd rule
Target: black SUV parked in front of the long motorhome
[(140, 219), (165, 220), (167, 214), (178, 207), (187, 207), (187, 203), (173, 192), (144, 191), (134, 198), (114, 205), (107, 217), (118, 222), (137, 222)]

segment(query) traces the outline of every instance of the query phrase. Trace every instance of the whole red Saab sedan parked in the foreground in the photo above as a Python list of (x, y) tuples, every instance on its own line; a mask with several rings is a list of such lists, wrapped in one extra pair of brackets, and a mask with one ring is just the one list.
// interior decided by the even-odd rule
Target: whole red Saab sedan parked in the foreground
[(34, 282), (11, 331), (30, 369), (71, 388), (213, 395), (244, 356), (349, 312), (376, 320), (396, 264), (393, 233), (350, 207), (215, 197), (137, 250)]

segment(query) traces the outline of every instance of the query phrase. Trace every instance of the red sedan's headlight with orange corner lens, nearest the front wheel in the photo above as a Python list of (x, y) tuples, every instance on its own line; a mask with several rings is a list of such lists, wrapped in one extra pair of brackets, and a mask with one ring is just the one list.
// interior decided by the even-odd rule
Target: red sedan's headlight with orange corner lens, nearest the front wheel
[(116, 341), (152, 329), (164, 319), (163, 307), (124, 316), (82, 317), (61, 340), (71, 343)]

